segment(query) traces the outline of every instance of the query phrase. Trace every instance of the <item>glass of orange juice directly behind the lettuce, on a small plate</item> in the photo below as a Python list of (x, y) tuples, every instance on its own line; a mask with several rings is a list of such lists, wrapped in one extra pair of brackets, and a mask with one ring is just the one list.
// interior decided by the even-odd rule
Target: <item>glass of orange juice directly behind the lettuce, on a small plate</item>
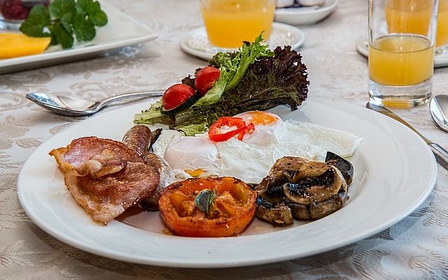
[(201, 0), (207, 36), (218, 48), (239, 48), (262, 31), (269, 38), (274, 21), (275, 0)]

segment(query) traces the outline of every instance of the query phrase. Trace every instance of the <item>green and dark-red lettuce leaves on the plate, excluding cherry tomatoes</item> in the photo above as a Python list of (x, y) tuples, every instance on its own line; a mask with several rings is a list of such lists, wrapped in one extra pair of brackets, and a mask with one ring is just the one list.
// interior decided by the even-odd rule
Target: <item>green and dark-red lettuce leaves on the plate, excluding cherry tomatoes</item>
[[(171, 129), (181, 130), (186, 135), (193, 136), (207, 131), (209, 125), (221, 116), (235, 116), (245, 111), (262, 111), (282, 104), (290, 106), (291, 110), (297, 109), (307, 99), (309, 85), (307, 67), (302, 63), (300, 54), (290, 46), (277, 47), (272, 53), (274, 56), (255, 58), (250, 64), (241, 65), (241, 68), (239, 68), (241, 61), (238, 66), (235, 66), (234, 62), (241, 57), (251, 57), (250, 52), (245, 55), (238, 52), (218, 53), (209, 63), (216, 68), (225, 68), (225, 73), (227, 75), (233, 73), (233, 76), (232, 78), (226, 76), (224, 92), (220, 93), (223, 84), (219, 80), (207, 92), (205, 96), (213, 94), (215, 98), (219, 97), (207, 99), (212, 100), (212, 104), (208, 102), (195, 104), (190, 109), (176, 114), (174, 118), (162, 119), (154, 115), (158, 118), (154, 120), (137, 114), (139, 118), (135, 118), (135, 122), (163, 123), (169, 125)], [(244, 68), (246, 68), (244, 73), (241, 72), (243, 70), (238, 70)], [(237, 76), (239, 76), (238, 82), (233, 84), (232, 80)], [(194, 86), (194, 79), (188, 76), (182, 83)]]

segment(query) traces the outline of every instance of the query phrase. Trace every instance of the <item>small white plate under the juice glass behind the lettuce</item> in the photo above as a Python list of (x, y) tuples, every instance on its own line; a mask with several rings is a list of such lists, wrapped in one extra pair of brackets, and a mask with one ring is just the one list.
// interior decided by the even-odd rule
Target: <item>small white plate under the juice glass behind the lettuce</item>
[[(303, 45), (304, 41), (305, 36), (302, 30), (297, 27), (274, 22), (267, 44), (271, 49), (276, 48), (277, 45), (281, 45), (282, 47), (283, 45), (290, 45), (296, 49)], [(181, 40), (181, 48), (190, 55), (195, 55), (205, 60), (211, 59), (219, 50), (209, 42), (205, 27), (199, 27), (188, 32)]]

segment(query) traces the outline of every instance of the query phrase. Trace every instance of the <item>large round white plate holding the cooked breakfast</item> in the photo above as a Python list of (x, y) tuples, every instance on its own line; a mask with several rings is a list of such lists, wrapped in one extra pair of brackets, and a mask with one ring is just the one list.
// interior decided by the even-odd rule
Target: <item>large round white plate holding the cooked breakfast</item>
[[(95, 135), (120, 140), (134, 113), (148, 103), (99, 114), (55, 134), (36, 148), (18, 177), (18, 197), (39, 228), (76, 248), (105, 257), (170, 267), (237, 267), (279, 262), (330, 251), (398, 223), (428, 197), (437, 165), (428, 145), (400, 123), (360, 106), (308, 99), (297, 111), (271, 111), (344, 130), (363, 142), (349, 158), (355, 175), (350, 199), (330, 216), (286, 228), (254, 219), (239, 237), (168, 235), (158, 212), (126, 213), (108, 225), (90, 220), (64, 186), (48, 155), (72, 139)], [(107, 125), (110, 124), (110, 125)], [(405, 144), (405, 145), (404, 145)]]

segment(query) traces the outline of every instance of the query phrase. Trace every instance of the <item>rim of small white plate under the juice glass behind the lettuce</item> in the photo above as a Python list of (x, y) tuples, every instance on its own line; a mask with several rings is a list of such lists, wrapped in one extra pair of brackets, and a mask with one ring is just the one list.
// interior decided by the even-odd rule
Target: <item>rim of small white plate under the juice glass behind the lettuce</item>
[[(289, 31), (293, 31), (295, 34), (298, 34), (300, 36), (299, 40), (297, 40), (293, 45), (291, 45), (293, 49), (300, 48), (304, 44), (305, 35), (301, 29), (294, 27), (292, 25), (287, 25), (286, 23), (282, 22), (272, 22), (272, 29), (274, 28), (289, 29)], [(188, 43), (188, 39), (190, 38), (190, 36), (199, 31), (205, 31), (204, 25), (191, 29), (190, 31), (187, 32), (187, 34), (185, 34), (181, 38), (180, 41), (181, 49), (190, 55), (194, 55), (195, 57), (200, 57), (201, 59), (209, 60), (211, 59), (211, 57), (213, 57), (214, 54), (211, 54), (211, 52), (204, 52), (201, 50), (197, 50), (195, 48), (191, 48), (190, 44)]]

